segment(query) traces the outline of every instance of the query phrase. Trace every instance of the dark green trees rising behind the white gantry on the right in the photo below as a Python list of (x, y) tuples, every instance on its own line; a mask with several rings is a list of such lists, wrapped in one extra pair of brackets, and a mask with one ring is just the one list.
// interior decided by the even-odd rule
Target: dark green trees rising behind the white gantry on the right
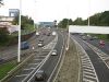
[[(88, 24), (88, 17), (86, 20), (77, 17), (74, 21), (72, 21), (72, 19), (63, 19), (62, 21), (59, 22), (58, 26), (65, 28), (68, 25), (87, 25), (87, 24)], [(109, 26), (109, 11), (96, 13), (89, 16), (89, 25)]]

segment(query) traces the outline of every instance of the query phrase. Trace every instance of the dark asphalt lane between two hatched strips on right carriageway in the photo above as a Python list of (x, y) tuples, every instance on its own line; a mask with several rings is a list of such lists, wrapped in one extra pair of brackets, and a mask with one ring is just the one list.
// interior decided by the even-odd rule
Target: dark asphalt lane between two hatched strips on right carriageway
[[(90, 61), (95, 68), (99, 82), (109, 82), (109, 69), (99, 56), (90, 49), (77, 35), (73, 37), (84, 48), (90, 58)], [(96, 43), (96, 42), (95, 42)], [(93, 44), (95, 45), (95, 44)]]

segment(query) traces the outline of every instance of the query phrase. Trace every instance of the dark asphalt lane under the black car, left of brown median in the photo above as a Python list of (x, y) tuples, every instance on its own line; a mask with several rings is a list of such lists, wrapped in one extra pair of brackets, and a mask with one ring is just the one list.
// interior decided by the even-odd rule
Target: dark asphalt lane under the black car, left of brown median
[[(57, 62), (60, 58), (62, 46), (63, 37), (60, 33), (58, 33), (58, 43), (55, 47), (55, 49), (58, 51), (58, 56), (50, 56), (46, 63), (40, 68), (40, 70), (46, 72), (46, 80), (40, 82), (52, 82), (52, 71), (55, 70), (55, 67), (57, 66)], [(35, 82), (35, 77), (29, 82)]]

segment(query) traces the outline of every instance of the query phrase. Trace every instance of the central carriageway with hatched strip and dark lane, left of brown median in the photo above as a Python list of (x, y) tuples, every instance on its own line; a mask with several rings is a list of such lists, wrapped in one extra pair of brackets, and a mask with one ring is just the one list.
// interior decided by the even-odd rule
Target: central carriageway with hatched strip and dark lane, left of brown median
[[(41, 82), (51, 82), (57, 62), (62, 56), (63, 37), (60, 32), (58, 32), (58, 37), (55, 37), (53, 42), (48, 46), (50, 48), (47, 51), (43, 51), (44, 48), (40, 48), (38, 52), (34, 52), (34, 59), (8, 82), (35, 82), (35, 73), (37, 70), (44, 70), (46, 72), (46, 80)], [(57, 49), (58, 56), (50, 55), (53, 48)], [(32, 72), (33, 70), (35, 71)]]

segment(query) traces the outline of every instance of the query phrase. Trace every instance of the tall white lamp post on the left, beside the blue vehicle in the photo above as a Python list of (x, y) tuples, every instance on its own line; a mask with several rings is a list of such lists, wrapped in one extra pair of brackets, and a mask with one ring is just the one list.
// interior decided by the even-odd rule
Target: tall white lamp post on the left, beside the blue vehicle
[(19, 15), (19, 50), (17, 62), (21, 62), (21, 13), (22, 13), (22, 0), (20, 0), (20, 15)]

